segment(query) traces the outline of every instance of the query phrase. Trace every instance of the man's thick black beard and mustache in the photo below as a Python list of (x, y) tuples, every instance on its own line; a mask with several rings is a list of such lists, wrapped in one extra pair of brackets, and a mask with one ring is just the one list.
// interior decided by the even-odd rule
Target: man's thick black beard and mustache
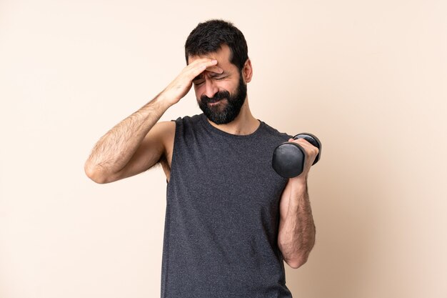
[[(200, 109), (208, 119), (216, 124), (227, 124), (238, 116), (246, 96), (247, 85), (243, 82), (242, 74), (240, 74), (239, 84), (235, 94), (230, 94), (228, 91), (219, 91), (212, 98), (206, 95), (201, 96), (198, 102)], [(222, 99), (227, 100), (224, 108), (221, 107), (224, 103), (209, 106), (210, 102), (216, 102)]]

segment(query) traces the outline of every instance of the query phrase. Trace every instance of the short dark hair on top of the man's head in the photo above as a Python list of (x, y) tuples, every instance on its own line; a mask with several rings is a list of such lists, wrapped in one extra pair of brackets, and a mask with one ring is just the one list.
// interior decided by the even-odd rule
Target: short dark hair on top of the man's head
[(185, 57), (188, 63), (189, 56), (198, 56), (218, 51), (222, 44), (228, 45), (231, 50), (230, 62), (243, 69), (248, 59), (248, 48), (245, 37), (229, 21), (212, 19), (194, 28), (186, 39)]

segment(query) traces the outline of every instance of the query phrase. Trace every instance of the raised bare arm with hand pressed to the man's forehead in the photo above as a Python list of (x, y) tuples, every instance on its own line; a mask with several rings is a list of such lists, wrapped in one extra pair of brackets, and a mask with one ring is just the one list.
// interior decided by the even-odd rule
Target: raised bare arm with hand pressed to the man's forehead
[(109, 183), (139, 174), (159, 162), (166, 151), (166, 132), (169, 135), (174, 124), (156, 122), (189, 92), (196, 76), (206, 69), (221, 73), (216, 64), (214, 59), (195, 60), (155, 99), (116, 124), (94, 146), (84, 164), (86, 175), (94, 182)]

